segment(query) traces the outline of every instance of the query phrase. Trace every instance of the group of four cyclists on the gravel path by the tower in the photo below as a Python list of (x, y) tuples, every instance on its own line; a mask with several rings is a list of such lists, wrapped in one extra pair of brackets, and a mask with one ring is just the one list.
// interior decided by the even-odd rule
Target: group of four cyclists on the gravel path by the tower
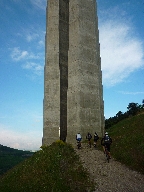
[[(91, 147), (92, 135), (89, 132), (88, 132), (88, 134), (86, 136), (86, 139), (88, 140), (88, 144)], [(94, 139), (93, 145), (94, 145), (94, 147), (96, 147), (97, 141), (99, 140), (99, 136), (98, 136), (98, 134), (96, 132), (94, 134), (93, 139)], [(76, 135), (76, 140), (77, 140), (77, 142), (81, 143), (82, 136), (81, 136), (80, 133), (78, 133)], [(111, 145), (111, 143), (112, 143), (111, 137), (108, 135), (108, 132), (105, 132), (105, 135), (101, 139), (101, 145), (103, 146), (104, 153), (105, 153), (105, 147), (107, 147), (107, 150), (109, 151), (109, 155), (110, 155), (110, 145)]]

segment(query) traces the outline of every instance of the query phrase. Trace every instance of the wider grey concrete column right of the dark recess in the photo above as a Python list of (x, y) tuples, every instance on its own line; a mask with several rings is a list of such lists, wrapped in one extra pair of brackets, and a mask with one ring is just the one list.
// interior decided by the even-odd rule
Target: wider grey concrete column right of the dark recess
[(67, 140), (76, 133), (100, 136), (104, 130), (104, 104), (95, 0), (70, 0), (68, 55)]

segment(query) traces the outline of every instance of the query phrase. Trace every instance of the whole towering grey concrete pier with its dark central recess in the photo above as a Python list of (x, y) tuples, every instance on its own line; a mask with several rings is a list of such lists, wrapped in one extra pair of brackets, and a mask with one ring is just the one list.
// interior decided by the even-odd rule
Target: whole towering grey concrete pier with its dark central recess
[(43, 145), (104, 131), (95, 0), (48, 0)]

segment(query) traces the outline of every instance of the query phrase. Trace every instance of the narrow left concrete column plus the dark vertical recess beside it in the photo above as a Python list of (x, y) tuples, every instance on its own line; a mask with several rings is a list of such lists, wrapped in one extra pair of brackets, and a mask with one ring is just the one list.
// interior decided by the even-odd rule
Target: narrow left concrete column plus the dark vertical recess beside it
[(43, 144), (67, 136), (69, 0), (48, 0), (47, 5)]

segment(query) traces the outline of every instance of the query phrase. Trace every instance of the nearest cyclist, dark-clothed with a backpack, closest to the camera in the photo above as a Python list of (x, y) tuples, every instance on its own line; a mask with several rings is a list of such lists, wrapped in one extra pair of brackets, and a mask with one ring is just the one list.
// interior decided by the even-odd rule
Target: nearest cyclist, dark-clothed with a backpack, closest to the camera
[(101, 145), (103, 146), (104, 153), (105, 153), (105, 146), (107, 147), (107, 150), (109, 152), (109, 156), (110, 156), (110, 145), (111, 145), (111, 143), (112, 143), (112, 139), (108, 135), (108, 132), (106, 132), (104, 137), (101, 140)]

